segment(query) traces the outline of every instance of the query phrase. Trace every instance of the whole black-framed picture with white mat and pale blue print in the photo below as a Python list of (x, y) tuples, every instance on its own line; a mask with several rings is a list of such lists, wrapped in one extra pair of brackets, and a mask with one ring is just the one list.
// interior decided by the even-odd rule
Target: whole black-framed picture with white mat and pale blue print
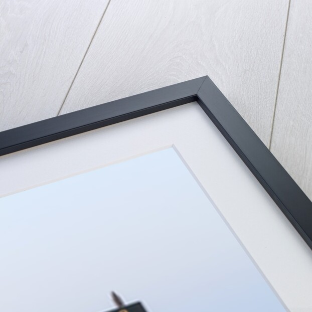
[(0, 310), (312, 310), (312, 203), (209, 77), (0, 132), (0, 154)]

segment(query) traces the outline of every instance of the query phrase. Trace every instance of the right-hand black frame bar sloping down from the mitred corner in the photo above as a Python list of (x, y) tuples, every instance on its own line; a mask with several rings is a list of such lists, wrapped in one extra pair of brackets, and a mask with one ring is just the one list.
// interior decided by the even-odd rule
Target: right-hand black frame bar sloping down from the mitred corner
[(197, 101), (312, 249), (312, 202), (209, 77)]

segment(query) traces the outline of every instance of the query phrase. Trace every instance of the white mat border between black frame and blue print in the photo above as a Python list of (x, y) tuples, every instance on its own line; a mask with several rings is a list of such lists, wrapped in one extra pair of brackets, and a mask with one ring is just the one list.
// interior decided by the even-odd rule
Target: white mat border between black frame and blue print
[(290, 310), (311, 310), (311, 250), (196, 103), (1, 157), (0, 196), (173, 144)]

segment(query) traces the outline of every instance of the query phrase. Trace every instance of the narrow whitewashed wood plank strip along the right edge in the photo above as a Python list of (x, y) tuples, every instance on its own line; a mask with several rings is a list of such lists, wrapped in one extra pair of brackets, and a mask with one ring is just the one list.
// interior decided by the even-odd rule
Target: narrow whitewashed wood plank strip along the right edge
[(271, 151), (312, 200), (312, 2), (291, 1)]

